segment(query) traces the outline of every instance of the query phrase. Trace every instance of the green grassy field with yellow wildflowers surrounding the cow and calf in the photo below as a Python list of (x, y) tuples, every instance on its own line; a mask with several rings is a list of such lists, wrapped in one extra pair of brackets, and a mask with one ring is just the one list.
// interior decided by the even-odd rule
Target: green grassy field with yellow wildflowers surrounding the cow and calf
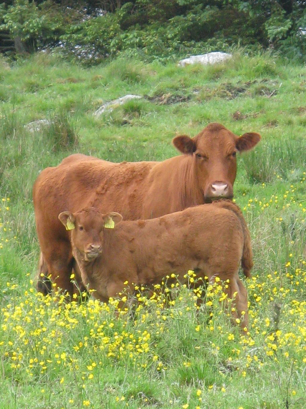
[[(305, 78), (305, 66), (243, 50), (214, 67), (0, 59), (0, 409), (305, 407)], [(93, 117), (126, 94), (143, 98)], [(50, 125), (30, 133), (36, 119)], [(186, 288), (170, 305), (140, 288), (133, 319), (116, 319), (115, 301), (36, 293), (31, 189), (42, 169), (74, 152), (164, 160), (177, 154), (172, 137), (209, 122), (262, 135), (237, 158), (234, 186), (255, 260), (243, 279), (249, 333), (230, 325), (218, 285), (198, 315)]]

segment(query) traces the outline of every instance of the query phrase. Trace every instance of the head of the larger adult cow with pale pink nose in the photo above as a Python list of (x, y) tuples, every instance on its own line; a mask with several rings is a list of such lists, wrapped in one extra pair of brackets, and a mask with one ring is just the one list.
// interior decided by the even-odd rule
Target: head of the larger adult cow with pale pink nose
[(175, 137), (173, 144), (180, 152), (192, 156), (197, 181), (207, 203), (217, 198), (233, 198), (236, 153), (252, 149), (260, 139), (255, 132), (238, 137), (223, 125), (213, 123), (193, 138)]

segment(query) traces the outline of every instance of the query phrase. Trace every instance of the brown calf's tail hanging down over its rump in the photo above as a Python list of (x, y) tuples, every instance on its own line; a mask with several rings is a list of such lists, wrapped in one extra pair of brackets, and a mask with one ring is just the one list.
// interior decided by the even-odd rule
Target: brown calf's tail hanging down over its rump
[(253, 267), (253, 252), (251, 247), (251, 236), (246, 225), (246, 221), (244, 220), (242, 211), (240, 208), (235, 205), (231, 200), (215, 200), (213, 202), (214, 205), (218, 207), (222, 207), (223, 209), (228, 209), (233, 211), (236, 216), (239, 218), (243, 234), (244, 234), (244, 244), (243, 244), (243, 251), (242, 251), (242, 258), (241, 258), (241, 266), (246, 277), (251, 277), (251, 269)]

